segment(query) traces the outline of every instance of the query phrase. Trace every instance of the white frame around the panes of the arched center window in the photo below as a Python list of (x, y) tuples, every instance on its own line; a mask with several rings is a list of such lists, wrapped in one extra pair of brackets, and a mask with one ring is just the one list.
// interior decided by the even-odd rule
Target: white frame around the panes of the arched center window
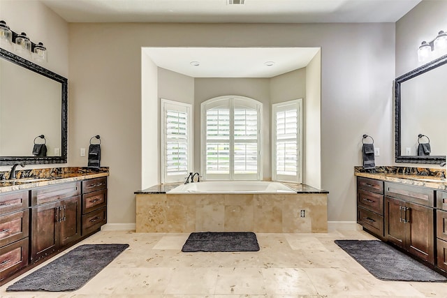
[[(256, 174), (235, 174), (234, 165), (234, 110), (236, 105), (242, 105), (246, 107), (252, 107), (257, 112), (257, 172)], [(206, 144), (207, 144), (207, 128), (206, 117), (207, 110), (219, 105), (226, 105), (230, 109), (230, 170), (229, 174), (207, 174), (206, 172)], [(201, 103), (200, 105), (200, 173), (203, 175), (203, 179), (206, 180), (262, 180), (263, 168), (261, 158), (261, 129), (262, 129), (262, 103), (253, 98), (245, 96), (219, 96), (211, 98)]]

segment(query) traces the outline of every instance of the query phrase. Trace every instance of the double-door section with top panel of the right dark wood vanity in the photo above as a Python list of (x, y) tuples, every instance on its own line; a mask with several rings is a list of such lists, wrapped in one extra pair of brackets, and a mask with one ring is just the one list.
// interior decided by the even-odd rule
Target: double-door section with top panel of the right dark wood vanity
[(386, 240), (434, 264), (434, 191), (386, 182), (385, 195)]

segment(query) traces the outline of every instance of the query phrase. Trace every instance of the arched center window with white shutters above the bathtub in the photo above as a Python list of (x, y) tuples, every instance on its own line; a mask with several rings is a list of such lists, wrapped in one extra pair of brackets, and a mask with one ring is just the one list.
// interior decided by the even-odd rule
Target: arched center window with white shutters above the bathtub
[(261, 106), (242, 96), (202, 103), (202, 169), (205, 179), (261, 179)]

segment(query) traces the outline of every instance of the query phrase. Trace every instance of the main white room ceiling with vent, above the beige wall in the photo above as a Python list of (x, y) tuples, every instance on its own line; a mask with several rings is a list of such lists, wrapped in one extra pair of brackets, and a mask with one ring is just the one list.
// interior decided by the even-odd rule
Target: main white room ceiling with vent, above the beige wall
[(41, 1), (67, 22), (327, 23), (396, 22), (422, 0)]

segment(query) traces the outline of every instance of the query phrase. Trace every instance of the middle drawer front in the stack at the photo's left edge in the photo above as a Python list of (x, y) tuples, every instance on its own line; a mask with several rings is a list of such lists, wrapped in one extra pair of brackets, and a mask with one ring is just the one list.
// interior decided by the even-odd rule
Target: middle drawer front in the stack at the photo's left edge
[(28, 237), (29, 210), (0, 216), (0, 246)]

